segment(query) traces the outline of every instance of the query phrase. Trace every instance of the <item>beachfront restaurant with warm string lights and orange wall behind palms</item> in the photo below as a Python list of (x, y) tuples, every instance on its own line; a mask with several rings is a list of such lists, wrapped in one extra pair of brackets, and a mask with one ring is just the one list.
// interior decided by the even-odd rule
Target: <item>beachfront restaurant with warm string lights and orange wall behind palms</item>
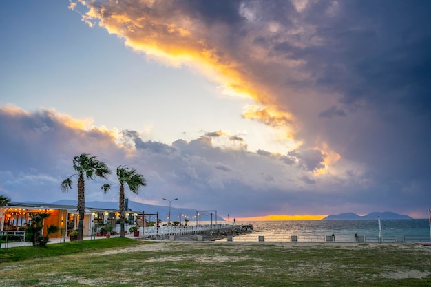
[[(57, 204), (37, 204), (37, 203), (20, 203), (9, 202), (6, 206), (0, 208), (0, 231), (8, 231), (9, 235), (25, 235), (25, 228), (32, 224), (31, 216), (37, 213), (48, 212), (50, 217), (45, 218), (43, 233), (46, 233), (46, 227), (51, 224), (59, 226), (59, 231), (50, 234), (52, 238), (64, 237), (78, 228), (79, 213), (76, 206), (57, 205)], [(126, 219), (130, 224), (136, 222), (138, 213), (126, 211)], [(103, 225), (112, 226), (114, 231), (117, 225), (120, 212), (114, 209), (101, 209), (85, 206), (84, 217), (84, 236), (94, 234), (98, 228)]]

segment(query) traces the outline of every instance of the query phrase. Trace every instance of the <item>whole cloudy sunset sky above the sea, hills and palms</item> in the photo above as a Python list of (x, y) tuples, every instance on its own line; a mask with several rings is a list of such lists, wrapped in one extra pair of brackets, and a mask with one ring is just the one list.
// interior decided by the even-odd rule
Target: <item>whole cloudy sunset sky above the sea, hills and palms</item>
[[(430, 1), (2, 1), (0, 194), (237, 218), (431, 208)], [(74, 178), (72, 178), (74, 179)], [(107, 180), (87, 181), (85, 200)], [(76, 184), (76, 178), (74, 179)]]

